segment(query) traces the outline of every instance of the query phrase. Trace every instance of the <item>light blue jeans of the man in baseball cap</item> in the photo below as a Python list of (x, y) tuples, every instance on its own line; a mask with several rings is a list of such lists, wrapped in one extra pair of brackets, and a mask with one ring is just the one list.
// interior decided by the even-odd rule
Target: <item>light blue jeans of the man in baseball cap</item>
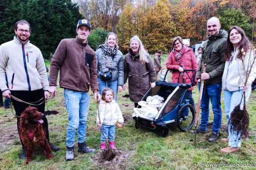
[(78, 143), (83, 143), (85, 141), (90, 96), (88, 92), (64, 89), (64, 97), (67, 112), (69, 114), (66, 145), (68, 147), (73, 147), (75, 143), (76, 128)]

